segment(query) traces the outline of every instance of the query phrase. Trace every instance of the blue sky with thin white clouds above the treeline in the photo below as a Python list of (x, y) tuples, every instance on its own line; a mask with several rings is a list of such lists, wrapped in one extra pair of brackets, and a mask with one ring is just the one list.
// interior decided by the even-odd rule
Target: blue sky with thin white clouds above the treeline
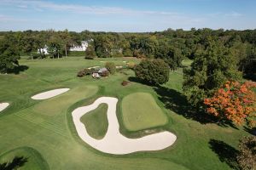
[(0, 0), (0, 31), (256, 29), (256, 0)]

